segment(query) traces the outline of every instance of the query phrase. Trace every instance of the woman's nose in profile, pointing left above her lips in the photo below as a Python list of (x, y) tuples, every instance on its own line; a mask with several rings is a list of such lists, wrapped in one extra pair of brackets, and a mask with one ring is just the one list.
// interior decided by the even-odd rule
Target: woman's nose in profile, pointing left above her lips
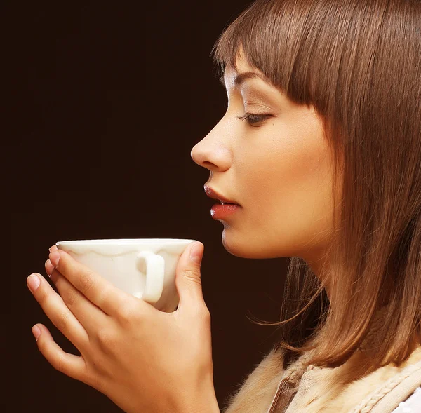
[[(218, 125), (217, 125), (218, 126)], [(217, 126), (206, 135), (199, 143), (194, 145), (190, 156), (197, 165), (211, 171), (223, 172), (231, 165), (231, 152), (227, 142), (222, 140)], [(217, 135), (218, 133), (218, 135)]]

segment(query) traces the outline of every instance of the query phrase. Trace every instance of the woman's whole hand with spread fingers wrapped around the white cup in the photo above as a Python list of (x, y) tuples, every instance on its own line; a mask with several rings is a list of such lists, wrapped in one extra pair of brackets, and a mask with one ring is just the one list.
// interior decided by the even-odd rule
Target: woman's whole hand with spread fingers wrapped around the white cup
[[(189, 254), (193, 245), (196, 261)], [(81, 356), (65, 353), (42, 324), (32, 327), (35, 336), (39, 328), (39, 351), (56, 370), (96, 388), (126, 412), (219, 412), (210, 313), (201, 288), (203, 249), (191, 243), (183, 252), (175, 276), (180, 304), (164, 313), (54, 245), (46, 272), (60, 295), (38, 273), (27, 283)]]

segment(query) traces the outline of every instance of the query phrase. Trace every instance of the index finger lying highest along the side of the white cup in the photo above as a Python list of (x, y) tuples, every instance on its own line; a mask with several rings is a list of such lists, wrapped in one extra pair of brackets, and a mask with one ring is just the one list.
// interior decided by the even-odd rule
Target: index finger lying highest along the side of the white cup
[(95, 271), (77, 262), (65, 251), (51, 250), (50, 261), (81, 294), (109, 316), (118, 313), (132, 297)]

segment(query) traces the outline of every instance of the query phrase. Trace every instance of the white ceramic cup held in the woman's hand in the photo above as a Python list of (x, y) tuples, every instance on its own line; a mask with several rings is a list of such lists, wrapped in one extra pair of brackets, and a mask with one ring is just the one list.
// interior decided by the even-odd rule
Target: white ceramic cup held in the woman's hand
[(172, 312), (178, 307), (175, 269), (189, 243), (171, 238), (60, 241), (59, 250), (88, 266), (121, 290)]

